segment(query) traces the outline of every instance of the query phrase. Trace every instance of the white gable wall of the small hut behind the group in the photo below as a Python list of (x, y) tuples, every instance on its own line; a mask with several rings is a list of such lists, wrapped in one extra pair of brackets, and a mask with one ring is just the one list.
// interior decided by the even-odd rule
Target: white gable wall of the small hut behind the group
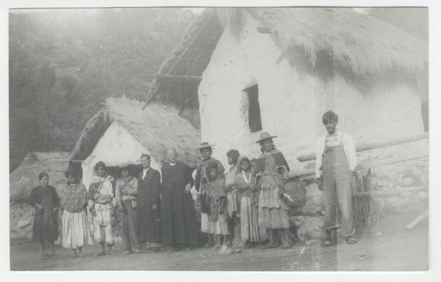
[(89, 157), (82, 162), (82, 182), (89, 189), (95, 175), (94, 166), (99, 161), (104, 161), (106, 166), (119, 166), (125, 162), (139, 163), (143, 153), (150, 154), (151, 167), (161, 171), (161, 161), (152, 156), (149, 149), (142, 146), (128, 130), (113, 122)]

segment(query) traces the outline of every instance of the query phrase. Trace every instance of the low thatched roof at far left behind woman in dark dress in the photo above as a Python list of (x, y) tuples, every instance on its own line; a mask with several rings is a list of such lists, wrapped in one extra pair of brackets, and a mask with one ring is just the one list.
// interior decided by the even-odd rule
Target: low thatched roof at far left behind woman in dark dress
[(49, 174), (49, 185), (61, 195), (66, 185), (64, 172), (68, 169), (70, 154), (67, 152), (34, 152), (27, 154), (23, 162), (9, 174), (9, 195), (11, 202), (26, 201), (32, 188), (39, 185), (38, 175)]

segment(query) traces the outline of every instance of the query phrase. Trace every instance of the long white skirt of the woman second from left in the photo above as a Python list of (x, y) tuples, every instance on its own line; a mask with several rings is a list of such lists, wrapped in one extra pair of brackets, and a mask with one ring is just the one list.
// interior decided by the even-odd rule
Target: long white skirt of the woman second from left
[(67, 249), (77, 249), (93, 243), (85, 209), (73, 213), (65, 210), (63, 212), (62, 229), (61, 243)]

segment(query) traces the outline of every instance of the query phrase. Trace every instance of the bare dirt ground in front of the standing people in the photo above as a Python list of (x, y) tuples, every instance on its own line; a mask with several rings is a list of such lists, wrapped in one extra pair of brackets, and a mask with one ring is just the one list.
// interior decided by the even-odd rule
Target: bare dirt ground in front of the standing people
[(247, 249), (235, 255), (216, 250), (94, 257), (99, 246), (84, 250), (86, 257), (70, 259), (70, 250), (56, 248), (58, 259), (39, 259), (37, 245), (11, 241), (12, 271), (63, 270), (180, 270), (180, 271), (424, 271), (428, 269), (428, 221), (406, 231), (409, 221), (427, 209), (427, 202), (389, 212), (359, 232), (359, 243), (324, 248), (319, 242), (297, 242), (288, 250)]

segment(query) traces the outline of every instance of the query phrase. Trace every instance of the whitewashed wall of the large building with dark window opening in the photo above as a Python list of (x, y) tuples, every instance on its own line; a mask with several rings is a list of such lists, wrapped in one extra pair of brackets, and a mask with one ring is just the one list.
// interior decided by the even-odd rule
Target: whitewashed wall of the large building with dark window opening
[(414, 90), (373, 85), (370, 93), (361, 94), (341, 77), (325, 83), (299, 73), (286, 59), (276, 62), (282, 52), (256, 26), (248, 15), (240, 39), (225, 28), (199, 85), (201, 139), (217, 145), (213, 156), (223, 164), (231, 148), (249, 157), (259, 154), (254, 142), (261, 132), (250, 133), (241, 114), (242, 90), (252, 82), (259, 84), (263, 131), (278, 135), (275, 145), (294, 169), (300, 168), (295, 157), (313, 152), (316, 138), (325, 133), (321, 116), (328, 109), (339, 114), (339, 130), (351, 133), (356, 142), (423, 131)]

